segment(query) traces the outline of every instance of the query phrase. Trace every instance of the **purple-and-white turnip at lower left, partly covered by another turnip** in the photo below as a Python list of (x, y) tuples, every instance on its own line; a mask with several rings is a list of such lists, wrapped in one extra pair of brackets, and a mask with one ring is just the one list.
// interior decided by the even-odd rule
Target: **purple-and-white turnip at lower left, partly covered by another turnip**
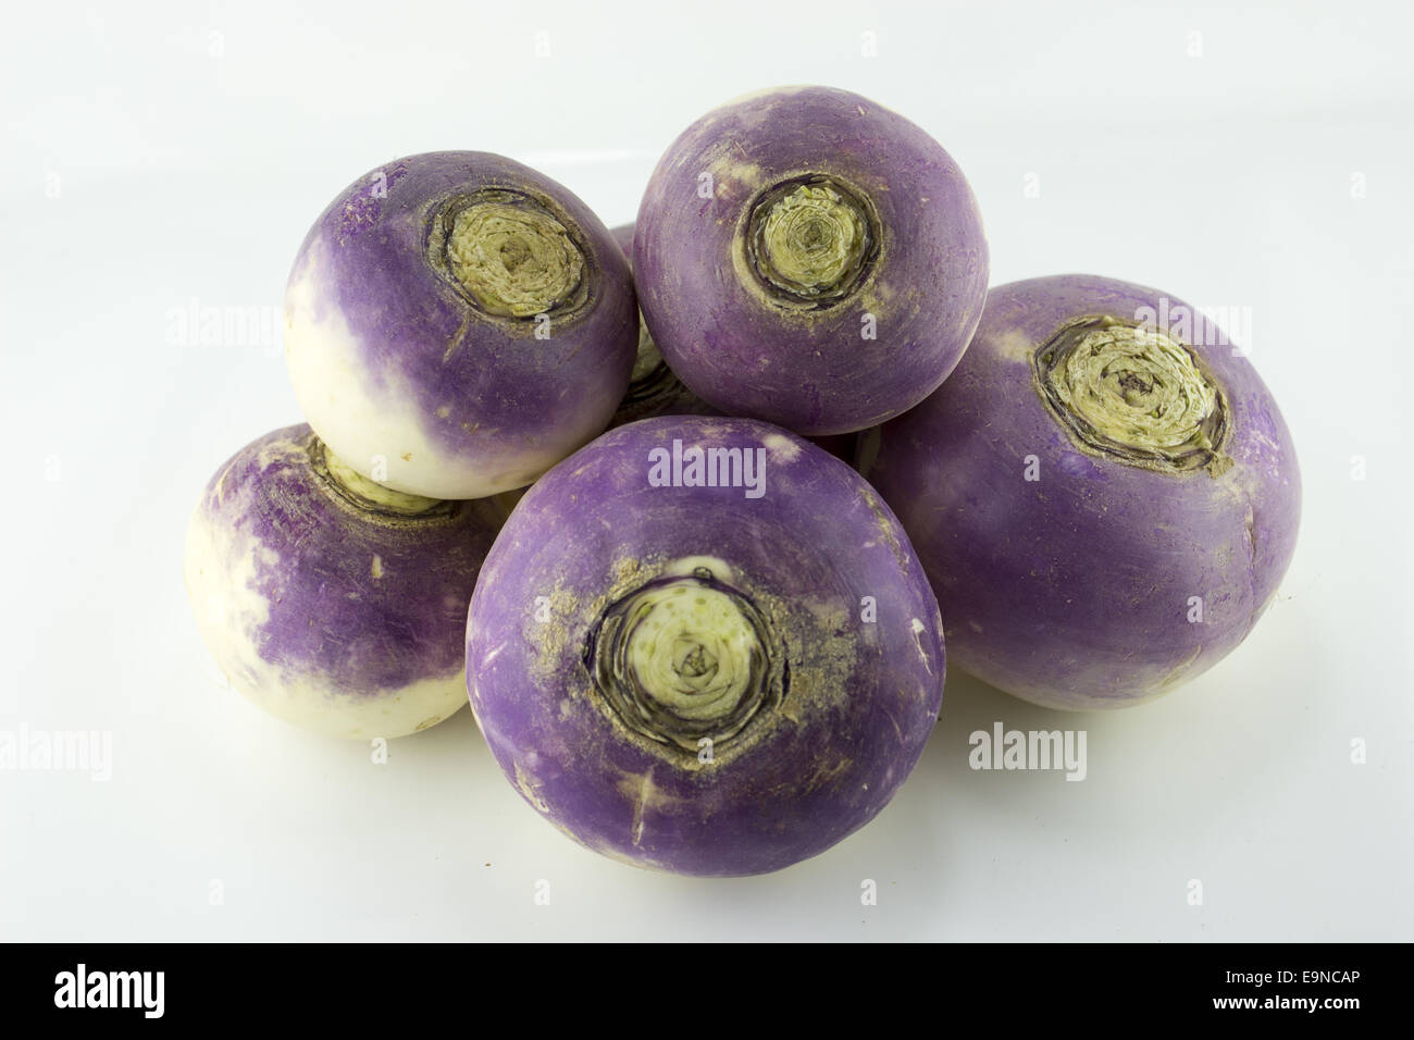
[(198, 628), (232, 686), (276, 717), (368, 740), (467, 699), (467, 604), (505, 511), (389, 492), (308, 426), (238, 451), (187, 533)]

